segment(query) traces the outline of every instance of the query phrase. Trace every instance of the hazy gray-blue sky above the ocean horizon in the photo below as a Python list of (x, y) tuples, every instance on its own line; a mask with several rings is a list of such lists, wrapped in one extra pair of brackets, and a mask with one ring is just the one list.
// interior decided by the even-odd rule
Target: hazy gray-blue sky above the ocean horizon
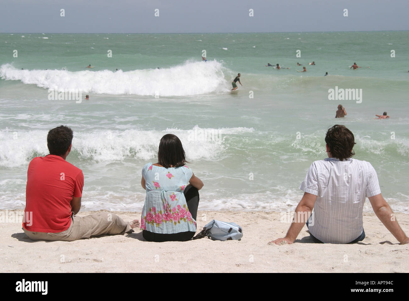
[(6, 33), (409, 30), (408, 0), (0, 0), (0, 7)]

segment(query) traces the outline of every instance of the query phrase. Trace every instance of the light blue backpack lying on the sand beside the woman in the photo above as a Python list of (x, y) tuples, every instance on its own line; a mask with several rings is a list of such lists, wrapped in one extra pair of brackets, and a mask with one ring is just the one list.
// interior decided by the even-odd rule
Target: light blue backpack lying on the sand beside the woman
[(204, 238), (205, 236), (212, 240), (240, 240), (243, 237), (243, 230), (236, 223), (212, 220), (193, 239)]

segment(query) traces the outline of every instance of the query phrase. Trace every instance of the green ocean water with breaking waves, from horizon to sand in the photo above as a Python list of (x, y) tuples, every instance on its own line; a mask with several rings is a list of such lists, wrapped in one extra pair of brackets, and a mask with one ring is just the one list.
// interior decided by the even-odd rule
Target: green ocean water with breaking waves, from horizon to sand
[[(24, 208), (28, 163), (64, 124), (74, 131), (67, 161), (85, 176), (81, 210), (142, 210), (142, 167), (169, 133), (205, 184), (201, 210), (294, 210), (308, 167), (326, 158), (326, 130), (344, 124), (354, 158), (409, 213), (408, 49), (407, 31), (0, 34), (0, 209)], [(230, 93), (238, 72), (243, 86)], [(336, 87), (362, 97), (329, 100)], [(81, 101), (50, 100), (54, 89)], [(373, 119), (384, 111), (391, 118)]]

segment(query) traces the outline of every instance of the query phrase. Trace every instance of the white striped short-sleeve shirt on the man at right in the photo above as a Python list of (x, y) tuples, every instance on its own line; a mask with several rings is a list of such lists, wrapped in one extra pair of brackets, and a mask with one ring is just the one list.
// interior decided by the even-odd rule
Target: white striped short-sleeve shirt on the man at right
[(352, 158), (313, 162), (300, 189), (317, 196), (308, 231), (332, 244), (346, 244), (362, 234), (365, 197), (381, 193), (371, 163)]

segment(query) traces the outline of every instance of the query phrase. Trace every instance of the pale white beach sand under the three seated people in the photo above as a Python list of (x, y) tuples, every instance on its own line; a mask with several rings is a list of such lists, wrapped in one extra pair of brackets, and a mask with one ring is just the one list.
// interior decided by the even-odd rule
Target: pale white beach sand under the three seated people
[[(140, 213), (115, 213), (126, 221), (140, 219)], [(409, 271), (409, 244), (400, 245), (373, 213), (364, 214), (364, 241), (343, 245), (312, 243), (306, 226), (294, 244), (268, 244), (287, 233), (290, 224), (280, 217), (277, 212), (199, 211), (199, 230), (212, 219), (243, 227), (241, 241), (225, 242), (146, 242), (139, 230), (74, 242), (33, 242), (20, 223), (0, 223), (0, 272)], [(408, 234), (409, 215), (396, 218)]]

